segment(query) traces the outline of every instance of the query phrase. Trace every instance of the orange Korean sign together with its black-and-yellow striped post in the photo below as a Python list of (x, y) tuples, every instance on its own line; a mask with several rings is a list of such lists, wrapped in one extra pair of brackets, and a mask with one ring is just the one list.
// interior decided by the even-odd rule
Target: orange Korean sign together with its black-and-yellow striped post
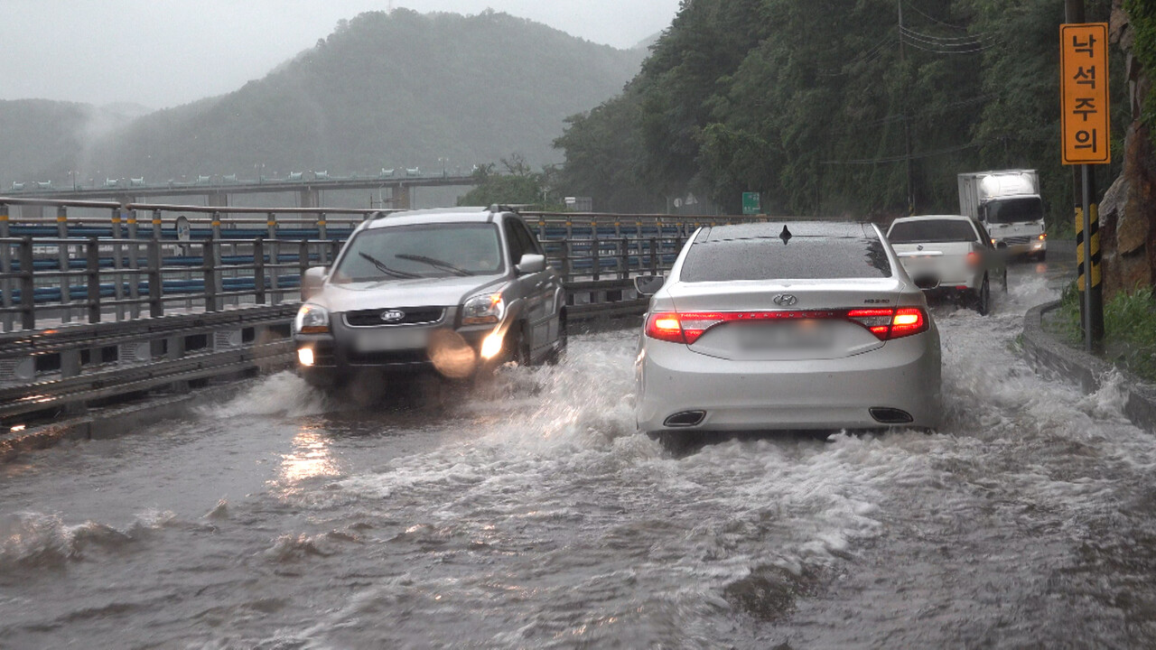
[(1076, 288), (1082, 297), (1084, 344), (1089, 352), (1104, 338), (1099, 206), (1095, 202), (1090, 165), (1112, 162), (1107, 80), (1107, 23), (1061, 24), (1062, 162), (1080, 165)]

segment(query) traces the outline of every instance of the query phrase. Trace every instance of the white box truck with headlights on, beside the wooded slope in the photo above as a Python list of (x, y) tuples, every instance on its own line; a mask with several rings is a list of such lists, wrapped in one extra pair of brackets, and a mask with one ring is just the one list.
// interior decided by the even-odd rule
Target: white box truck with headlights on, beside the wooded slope
[(1035, 259), (1047, 256), (1044, 201), (1033, 169), (970, 171), (959, 175), (959, 214), (983, 222), (992, 244)]

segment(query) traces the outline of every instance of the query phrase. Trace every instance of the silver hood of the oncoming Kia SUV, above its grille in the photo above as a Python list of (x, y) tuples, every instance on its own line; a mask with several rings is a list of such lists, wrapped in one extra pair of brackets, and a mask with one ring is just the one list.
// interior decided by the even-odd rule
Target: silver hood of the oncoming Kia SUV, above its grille
[(418, 278), (378, 282), (326, 282), (309, 302), (333, 312), (391, 306), (451, 306), (487, 288), (499, 288), (504, 275)]

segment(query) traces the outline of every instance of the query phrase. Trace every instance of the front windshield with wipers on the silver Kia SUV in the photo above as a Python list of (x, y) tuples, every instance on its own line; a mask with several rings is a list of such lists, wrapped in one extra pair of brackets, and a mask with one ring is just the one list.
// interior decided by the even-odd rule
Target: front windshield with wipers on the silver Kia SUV
[(405, 226), (358, 232), (333, 281), (492, 275), (502, 269), (498, 230), (491, 223)]

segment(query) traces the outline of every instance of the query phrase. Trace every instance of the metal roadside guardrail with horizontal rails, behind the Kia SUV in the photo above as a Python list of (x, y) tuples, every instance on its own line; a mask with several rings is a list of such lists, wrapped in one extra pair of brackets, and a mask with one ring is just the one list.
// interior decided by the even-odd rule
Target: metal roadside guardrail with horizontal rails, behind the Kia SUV
[[(57, 215), (10, 219), (8, 206)], [(288, 367), (302, 275), (375, 212), (0, 197), (0, 422)], [(642, 313), (635, 275), (669, 269), (698, 226), (743, 219), (523, 216), (573, 320)]]

